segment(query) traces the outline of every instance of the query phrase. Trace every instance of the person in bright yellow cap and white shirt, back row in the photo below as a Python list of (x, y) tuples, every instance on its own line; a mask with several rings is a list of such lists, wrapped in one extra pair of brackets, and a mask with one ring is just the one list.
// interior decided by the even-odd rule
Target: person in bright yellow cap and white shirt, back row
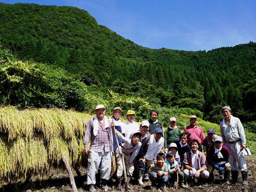
[(135, 118), (135, 112), (133, 110), (127, 111), (127, 121), (124, 123), (124, 132), (125, 132), (125, 137), (130, 138), (130, 135), (135, 132), (139, 131), (139, 124), (137, 124), (134, 121)]

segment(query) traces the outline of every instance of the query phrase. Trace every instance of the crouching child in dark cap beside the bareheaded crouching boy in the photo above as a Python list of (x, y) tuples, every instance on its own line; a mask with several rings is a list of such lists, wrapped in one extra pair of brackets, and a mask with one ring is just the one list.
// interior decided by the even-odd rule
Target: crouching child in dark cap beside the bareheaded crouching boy
[(177, 173), (180, 188), (188, 188), (184, 185), (184, 174), (180, 171), (179, 163), (175, 160), (175, 153), (173, 151), (169, 151), (166, 155), (167, 159), (165, 163), (167, 164), (167, 169), (169, 173), (169, 185), (168, 187), (173, 187), (174, 183), (177, 181)]

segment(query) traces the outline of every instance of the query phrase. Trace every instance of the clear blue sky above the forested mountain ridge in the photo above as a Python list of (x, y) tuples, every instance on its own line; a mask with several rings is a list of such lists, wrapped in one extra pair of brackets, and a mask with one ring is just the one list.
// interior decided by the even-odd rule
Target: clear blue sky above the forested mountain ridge
[(84, 9), (98, 24), (144, 47), (212, 50), (256, 42), (255, 0), (0, 0)]

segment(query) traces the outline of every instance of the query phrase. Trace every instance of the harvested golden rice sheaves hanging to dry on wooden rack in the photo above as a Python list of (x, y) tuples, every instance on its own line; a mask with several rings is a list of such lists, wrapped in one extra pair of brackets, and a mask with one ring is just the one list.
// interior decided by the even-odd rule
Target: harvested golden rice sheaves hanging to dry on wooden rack
[[(0, 186), (26, 176), (42, 176), (51, 166), (87, 167), (84, 131), (91, 115), (74, 110), (0, 107)], [(111, 176), (116, 171), (112, 158)]]

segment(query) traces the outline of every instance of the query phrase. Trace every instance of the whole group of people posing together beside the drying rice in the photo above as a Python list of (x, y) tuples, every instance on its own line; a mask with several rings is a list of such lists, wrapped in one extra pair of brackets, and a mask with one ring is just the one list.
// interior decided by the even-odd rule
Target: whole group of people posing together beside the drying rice
[[(242, 173), (243, 184), (247, 182), (245, 157), (241, 151), (246, 148), (244, 129), (240, 120), (231, 115), (229, 106), (222, 109), (223, 121), (220, 123), (221, 136), (213, 129), (204, 132), (197, 123), (197, 117), (190, 116), (190, 125), (184, 132), (177, 128), (175, 117), (170, 118), (170, 126), (163, 131), (158, 121), (158, 111), (152, 110), (150, 118), (134, 122), (135, 112), (127, 112), (127, 122), (120, 120), (122, 109), (114, 108), (111, 118), (105, 116), (104, 105), (97, 105), (96, 116), (88, 121), (84, 135), (84, 151), (88, 156), (87, 185), (95, 192), (95, 175), (100, 172), (100, 188), (111, 190), (107, 185), (111, 172), (112, 151), (116, 160), (117, 190), (121, 185), (124, 166), (127, 187), (135, 174), (138, 184), (150, 180), (153, 187), (179, 185), (190, 186), (214, 182), (214, 170), (218, 170), (223, 182), (230, 184), (238, 180), (238, 169)], [(117, 139), (116, 139), (117, 137)], [(89, 144), (90, 143), (90, 144)], [(90, 149), (89, 149), (90, 145)], [(206, 151), (206, 156), (203, 153)], [(124, 158), (124, 165), (121, 158)], [(237, 167), (238, 163), (238, 167)], [(232, 180), (229, 182), (229, 177)]]

